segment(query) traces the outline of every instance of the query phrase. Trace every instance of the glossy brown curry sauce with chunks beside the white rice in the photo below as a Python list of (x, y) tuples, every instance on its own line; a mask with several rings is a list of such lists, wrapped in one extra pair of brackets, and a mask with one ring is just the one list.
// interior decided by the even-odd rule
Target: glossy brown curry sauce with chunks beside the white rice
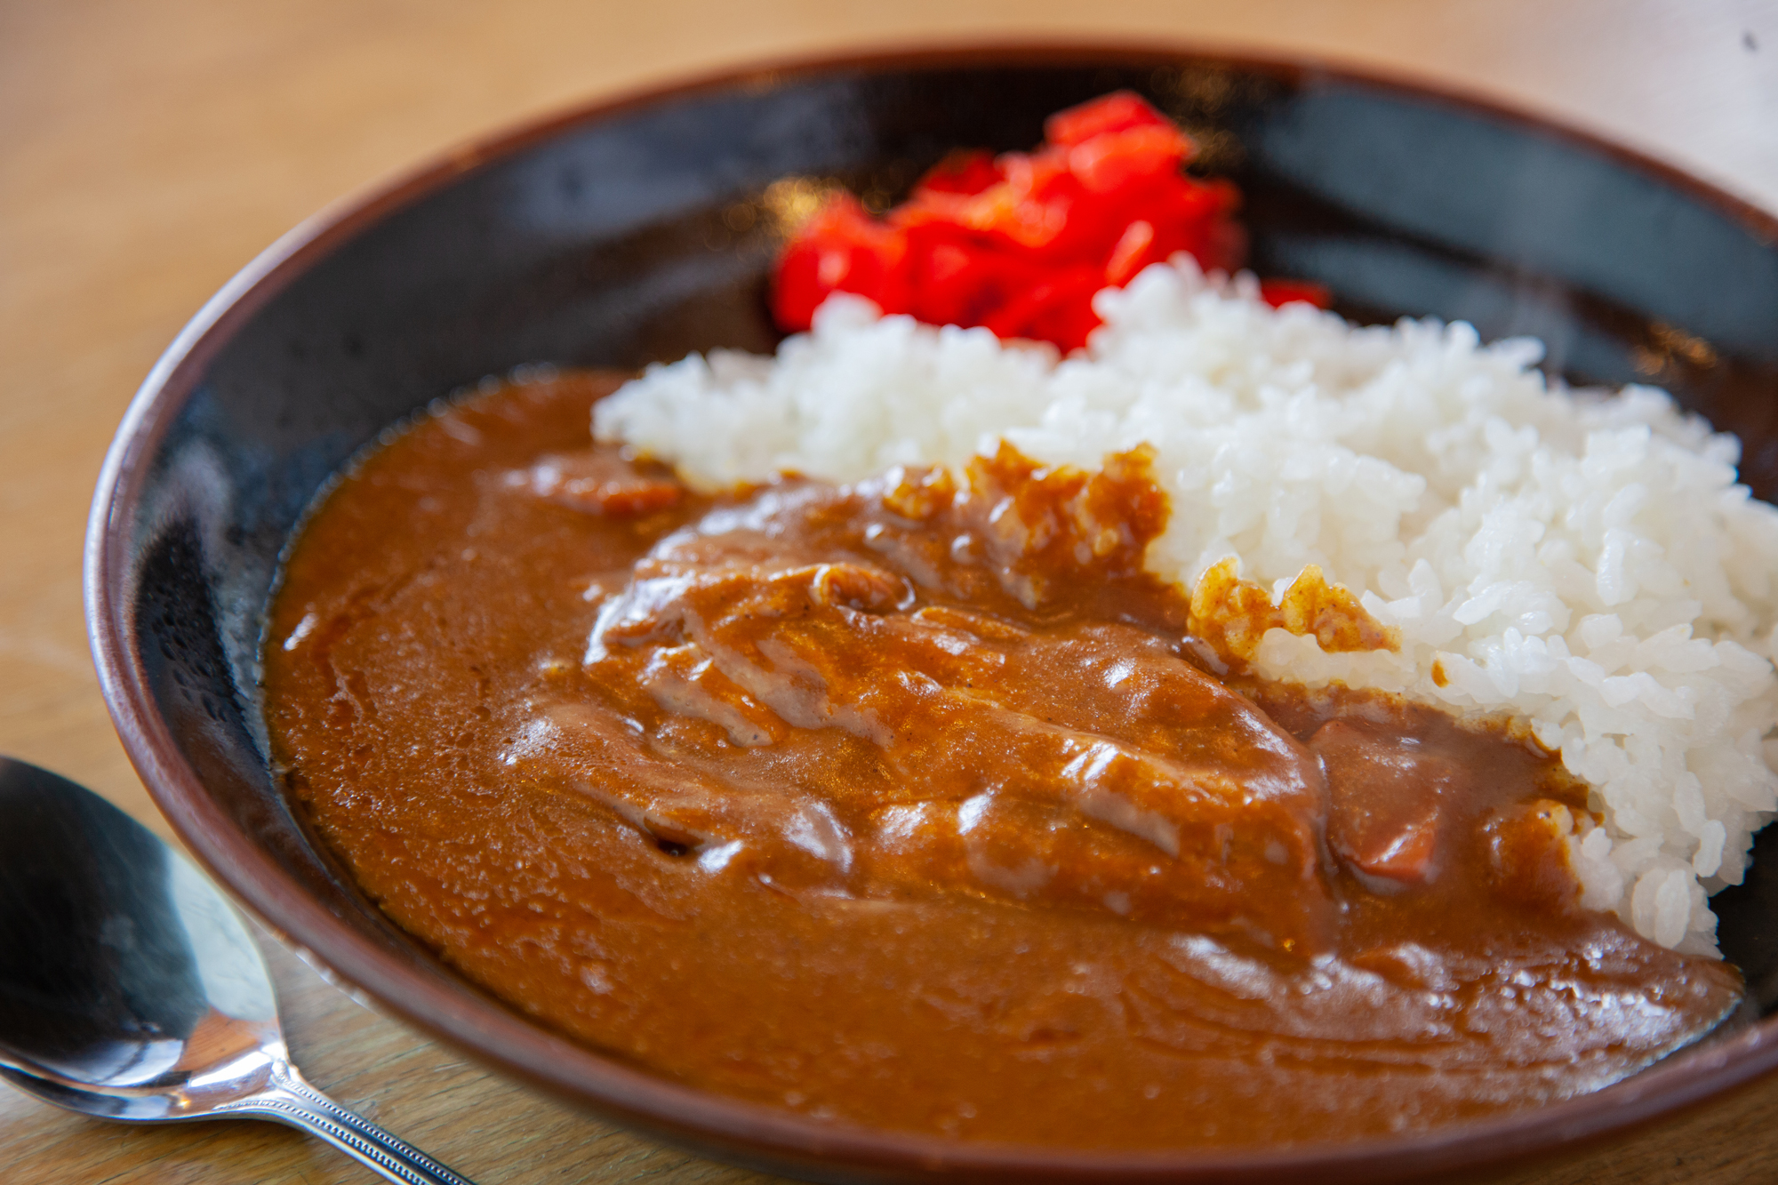
[[(1531, 1107), (1737, 1002), (1579, 907), (1536, 746), (1230, 674), (1141, 452), (701, 498), (587, 448), (612, 384), (370, 454), (267, 633), (293, 799), (516, 1007), (836, 1123), (1177, 1148)], [(1316, 582), (1277, 612), (1387, 644)]]

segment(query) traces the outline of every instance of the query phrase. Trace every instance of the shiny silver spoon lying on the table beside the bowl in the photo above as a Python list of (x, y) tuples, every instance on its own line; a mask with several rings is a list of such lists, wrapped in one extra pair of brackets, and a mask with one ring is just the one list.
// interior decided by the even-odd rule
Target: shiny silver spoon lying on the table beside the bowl
[(240, 915), (151, 831), (0, 758), (0, 1078), (103, 1119), (251, 1116), (405, 1185), (471, 1185), (290, 1064)]

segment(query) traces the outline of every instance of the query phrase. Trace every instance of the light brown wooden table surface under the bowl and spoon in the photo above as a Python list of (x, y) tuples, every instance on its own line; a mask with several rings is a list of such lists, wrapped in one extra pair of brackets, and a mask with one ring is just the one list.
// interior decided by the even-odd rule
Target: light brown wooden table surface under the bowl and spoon
[[(167, 827), (105, 715), (80, 536), (112, 429), (217, 286), (324, 205), (514, 119), (864, 44), (1156, 39), (1456, 82), (1778, 208), (1771, 0), (0, 0), (0, 751)], [(268, 950), (297, 1060), (487, 1185), (763, 1181), (505, 1082)], [(260, 1123), (103, 1125), (0, 1089), (0, 1178), (366, 1181)], [(1778, 1078), (1488, 1180), (1778, 1178)]]

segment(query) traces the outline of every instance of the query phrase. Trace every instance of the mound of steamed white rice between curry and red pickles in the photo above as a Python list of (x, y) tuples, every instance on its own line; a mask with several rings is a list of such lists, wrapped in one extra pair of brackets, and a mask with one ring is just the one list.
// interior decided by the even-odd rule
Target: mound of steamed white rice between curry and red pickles
[(1095, 468), (1147, 441), (1173, 505), (1159, 576), (1232, 555), (1277, 596), (1319, 564), (1401, 632), (1399, 653), (1323, 653), (1271, 630), (1261, 674), (1518, 717), (1604, 815), (1568, 840), (1582, 902), (1714, 952), (1707, 893), (1778, 806), (1778, 511), (1735, 482), (1739, 443), (1659, 390), (1552, 388), (1531, 340), (1271, 310), (1188, 260), (1095, 308), (1088, 352), (1058, 361), (834, 297), (777, 359), (654, 367), (594, 427), (709, 488), (1001, 438)]

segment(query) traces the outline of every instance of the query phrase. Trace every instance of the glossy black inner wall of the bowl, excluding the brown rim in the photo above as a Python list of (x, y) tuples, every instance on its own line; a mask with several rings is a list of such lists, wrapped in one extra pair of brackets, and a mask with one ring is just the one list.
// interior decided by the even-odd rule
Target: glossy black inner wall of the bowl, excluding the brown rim
[[(768, 351), (766, 185), (837, 178), (893, 198), (953, 146), (1028, 148), (1045, 114), (1117, 87), (1181, 119), (1204, 167), (1241, 185), (1261, 274), (1323, 281), (1362, 320), (1542, 336), (1550, 368), (1577, 381), (1664, 384), (1741, 432), (1744, 479), (1778, 491), (1771, 219), (1414, 89), (1168, 53), (1017, 59), (782, 71), (569, 119), (396, 190), (274, 269), (283, 286), (261, 281), (229, 327), (149, 383), (144, 397), (176, 415), (121, 463), (144, 477), (94, 520), (126, 514), (110, 525), (126, 539), (110, 578), (178, 751), (156, 760), (196, 769), (229, 826), (345, 925), (441, 991), (475, 995), (363, 900), (263, 758), (261, 610), (316, 489), (416, 407), (521, 363)], [(1757, 875), (1718, 899), (1725, 948), (1755, 984), (1778, 982), (1774, 895), (1778, 875)]]

